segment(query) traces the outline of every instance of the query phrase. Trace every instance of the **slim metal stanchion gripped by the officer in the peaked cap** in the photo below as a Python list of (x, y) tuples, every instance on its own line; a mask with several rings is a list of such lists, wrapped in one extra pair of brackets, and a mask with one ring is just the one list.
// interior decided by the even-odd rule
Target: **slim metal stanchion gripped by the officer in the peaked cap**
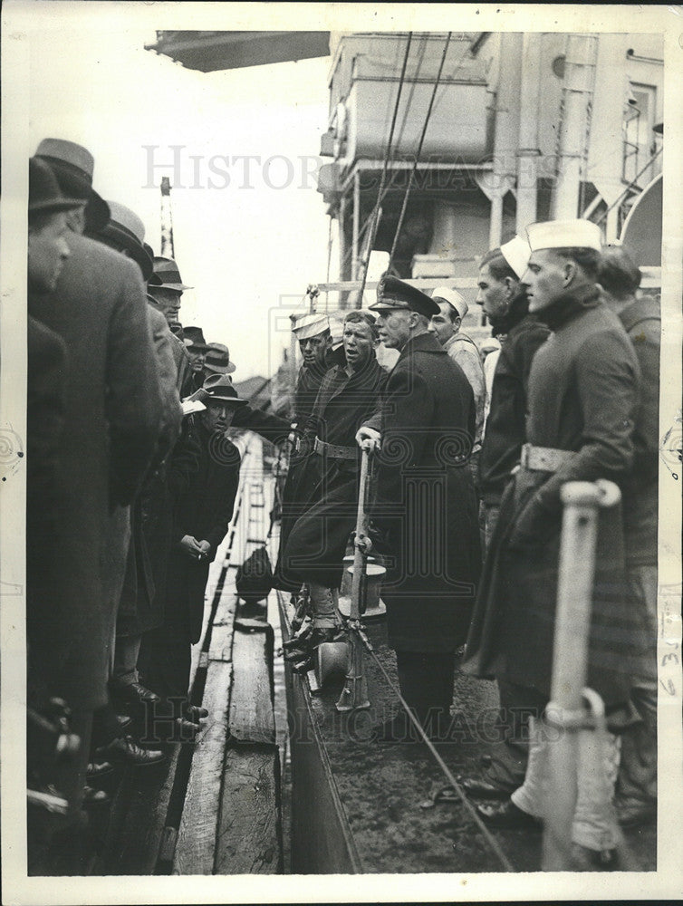
[(368, 682), (365, 679), (363, 644), (360, 637), (361, 605), (365, 598), (367, 583), (367, 564), (369, 552), (368, 516), (368, 477), (370, 473), (370, 451), (361, 451), (361, 480), (358, 490), (358, 510), (356, 513), (356, 535), (353, 542), (353, 575), (351, 580), (351, 612), (349, 614), (349, 651), (346, 668), (346, 681), (342, 695), (337, 702), (338, 711), (352, 711), (355, 708), (370, 708), (368, 699)]

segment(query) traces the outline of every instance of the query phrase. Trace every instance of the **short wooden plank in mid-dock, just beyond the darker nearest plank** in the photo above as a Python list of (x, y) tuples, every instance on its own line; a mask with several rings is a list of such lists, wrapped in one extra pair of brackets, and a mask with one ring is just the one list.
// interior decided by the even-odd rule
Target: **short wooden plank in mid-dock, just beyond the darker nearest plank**
[(238, 743), (274, 743), (273, 627), (236, 620), (235, 630), (230, 736)]

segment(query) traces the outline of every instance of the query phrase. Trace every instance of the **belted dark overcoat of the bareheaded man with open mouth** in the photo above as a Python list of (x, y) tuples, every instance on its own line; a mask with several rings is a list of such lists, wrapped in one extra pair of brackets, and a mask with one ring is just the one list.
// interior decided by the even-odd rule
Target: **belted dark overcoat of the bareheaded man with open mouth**
[(287, 570), (300, 582), (338, 588), (349, 535), (356, 523), (361, 449), (356, 432), (378, 408), (387, 372), (374, 354), (361, 371), (335, 365), (318, 391), (306, 423), (308, 439), (351, 448), (352, 459), (333, 458), (324, 450), (306, 460), (299, 486), (303, 512), (296, 519), (284, 551)]

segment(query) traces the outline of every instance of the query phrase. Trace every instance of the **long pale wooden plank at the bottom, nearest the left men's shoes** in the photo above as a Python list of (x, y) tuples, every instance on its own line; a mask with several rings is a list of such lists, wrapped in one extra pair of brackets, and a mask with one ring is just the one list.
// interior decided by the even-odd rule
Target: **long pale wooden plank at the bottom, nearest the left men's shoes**
[(202, 701), (208, 709), (208, 718), (197, 736), (192, 755), (188, 792), (178, 827), (174, 874), (211, 874), (214, 869), (232, 672), (232, 664), (228, 662), (209, 662)]

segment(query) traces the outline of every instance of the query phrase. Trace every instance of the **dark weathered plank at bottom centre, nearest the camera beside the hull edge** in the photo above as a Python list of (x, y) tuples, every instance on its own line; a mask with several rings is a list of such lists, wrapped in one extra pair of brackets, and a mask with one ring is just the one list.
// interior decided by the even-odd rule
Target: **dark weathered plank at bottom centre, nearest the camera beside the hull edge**
[(276, 747), (228, 749), (223, 784), (215, 873), (282, 873)]

